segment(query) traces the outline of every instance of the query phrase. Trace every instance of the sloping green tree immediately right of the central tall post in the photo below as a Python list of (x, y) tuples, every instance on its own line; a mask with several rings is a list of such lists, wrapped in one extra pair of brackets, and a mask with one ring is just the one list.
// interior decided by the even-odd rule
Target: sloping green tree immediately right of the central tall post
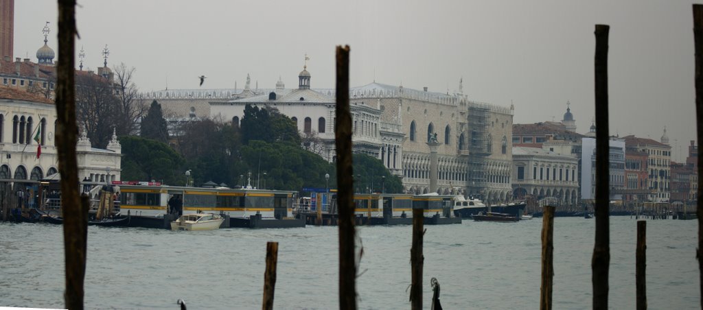
[[(354, 162), (354, 190), (362, 193), (403, 193), (403, 182), (391, 174), (378, 158), (366, 154), (352, 155)], [(367, 189), (368, 188), (368, 189)]]

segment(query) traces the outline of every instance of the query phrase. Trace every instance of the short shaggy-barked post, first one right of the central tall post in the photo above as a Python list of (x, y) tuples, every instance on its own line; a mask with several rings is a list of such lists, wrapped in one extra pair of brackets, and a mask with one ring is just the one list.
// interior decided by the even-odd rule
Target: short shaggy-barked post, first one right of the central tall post
[(422, 205), (413, 204), (413, 247), (410, 249), (411, 264), (411, 287), (410, 302), (411, 309), (423, 309), (423, 235), (425, 235), (424, 223), (425, 210)]

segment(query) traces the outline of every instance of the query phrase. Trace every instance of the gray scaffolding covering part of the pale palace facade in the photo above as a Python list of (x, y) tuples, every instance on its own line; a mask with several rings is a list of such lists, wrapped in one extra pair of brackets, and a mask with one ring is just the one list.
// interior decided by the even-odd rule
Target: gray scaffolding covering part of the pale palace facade
[(491, 150), (487, 146), (490, 106), (470, 103), (467, 112), (467, 129), (469, 134), (469, 157), (467, 164), (467, 194), (486, 199), (486, 162)]

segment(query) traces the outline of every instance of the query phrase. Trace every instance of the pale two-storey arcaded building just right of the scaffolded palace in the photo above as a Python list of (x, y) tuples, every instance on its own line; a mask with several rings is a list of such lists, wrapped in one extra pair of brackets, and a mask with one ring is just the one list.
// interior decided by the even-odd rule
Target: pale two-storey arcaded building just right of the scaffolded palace
[(516, 198), (528, 196), (551, 200), (555, 206), (574, 206), (579, 201), (576, 169), (579, 159), (543, 148), (512, 148), (512, 190)]

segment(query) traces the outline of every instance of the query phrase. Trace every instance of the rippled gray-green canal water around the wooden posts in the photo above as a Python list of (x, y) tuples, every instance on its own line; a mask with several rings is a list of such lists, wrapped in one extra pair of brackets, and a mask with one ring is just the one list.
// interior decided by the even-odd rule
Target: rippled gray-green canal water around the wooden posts
[[(425, 226), (445, 309), (538, 309), (541, 219)], [(555, 309), (591, 307), (595, 220), (555, 219)], [(361, 227), (359, 309), (409, 309), (411, 226)], [(611, 218), (610, 308), (635, 308), (636, 220)], [(647, 223), (650, 309), (697, 309), (697, 221)], [(89, 227), (86, 309), (261, 309), (277, 241), (276, 309), (337, 309), (337, 227), (172, 232)], [(0, 224), (0, 306), (63, 307), (63, 227)]]

